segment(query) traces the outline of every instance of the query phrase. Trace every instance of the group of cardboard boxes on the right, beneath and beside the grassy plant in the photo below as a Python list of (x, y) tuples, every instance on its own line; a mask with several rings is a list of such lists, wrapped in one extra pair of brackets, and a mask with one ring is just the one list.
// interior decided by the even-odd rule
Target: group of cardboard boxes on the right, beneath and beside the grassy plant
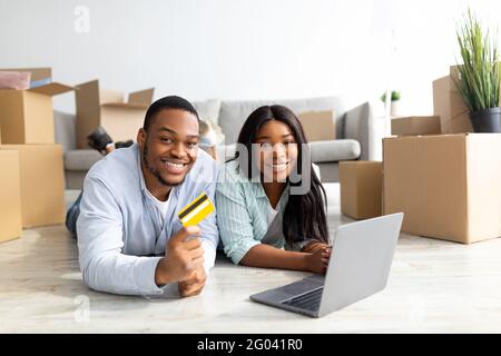
[(340, 165), (343, 214), (377, 216), (360, 207), (382, 196), (382, 214), (404, 212), (404, 233), (463, 244), (501, 236), (501, 135), (472, 134), (456, 76), (451, 67), (433, 82), (434, 116), (392, 120), (381, 176), (375, 162)]

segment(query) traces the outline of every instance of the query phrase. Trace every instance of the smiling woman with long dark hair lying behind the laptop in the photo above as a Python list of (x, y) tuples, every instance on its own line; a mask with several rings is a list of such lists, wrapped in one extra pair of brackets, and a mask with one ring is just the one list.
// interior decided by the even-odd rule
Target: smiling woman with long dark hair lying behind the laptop
[[(216, 188), (226, 255), (244, 266), (325, 273), (326, 197), (312, 164), (303, 161), (307, 142), (297, 117), (283, 106), (261, 107), (245, 121), (238, 144)], [(297, 194), (305, 182), (310, 189)]]

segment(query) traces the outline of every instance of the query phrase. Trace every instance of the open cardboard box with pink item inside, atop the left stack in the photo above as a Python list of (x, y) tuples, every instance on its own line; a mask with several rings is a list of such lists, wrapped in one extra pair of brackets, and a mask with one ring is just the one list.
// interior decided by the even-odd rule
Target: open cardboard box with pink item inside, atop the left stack
[[(32, 82), (50, 81), (50, 68), (1, 69), (30, 71)], [(43, 79), (45, 78), (45, 79)], [(3, 144), (53, 144), (52, 97), (73, 90), (59, 82), (28, 90), (0, 89), (0, 126)]]

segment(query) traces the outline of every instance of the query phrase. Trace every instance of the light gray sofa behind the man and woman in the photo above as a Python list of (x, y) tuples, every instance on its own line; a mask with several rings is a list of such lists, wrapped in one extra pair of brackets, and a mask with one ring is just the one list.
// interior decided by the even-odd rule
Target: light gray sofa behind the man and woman
[[(294, 112), (333, 110), (336, 116), (336, 140), (311, 142), (313, 161), (321, 169), (322, 181), (338, 181), (337, 162), (342, 160), (376, 159), (374, 138), (375, 116), (369, 102), (354, 108), (342, 97), (326, 97), (295, 100), (225, 101), (207, 100), (194, 102), (200, 117), (220, 126), (225, 144), (234, 144), (239, 129), (256, 108), (279, 103)], [(89, 168), (101, 158), (91, 149), (77, 149), (76, 117), (55, 111), (56, 141), (65, 150), (65, 176), (67, 189), (81, 189)]]

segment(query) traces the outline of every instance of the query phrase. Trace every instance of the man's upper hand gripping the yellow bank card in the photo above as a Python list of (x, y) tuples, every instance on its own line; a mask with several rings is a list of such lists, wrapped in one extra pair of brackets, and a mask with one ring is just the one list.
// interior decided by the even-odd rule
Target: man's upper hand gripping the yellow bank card
[[(198, 226), (188, 226), (170, 237), (165, 257), (160, 259), (155, 270), (157, 286), (187, 280), (193, 278), (196, 270), (204, 268), (204, 248), (199, 236)], [(188, 237), (193, 238), (187, 239)]]

